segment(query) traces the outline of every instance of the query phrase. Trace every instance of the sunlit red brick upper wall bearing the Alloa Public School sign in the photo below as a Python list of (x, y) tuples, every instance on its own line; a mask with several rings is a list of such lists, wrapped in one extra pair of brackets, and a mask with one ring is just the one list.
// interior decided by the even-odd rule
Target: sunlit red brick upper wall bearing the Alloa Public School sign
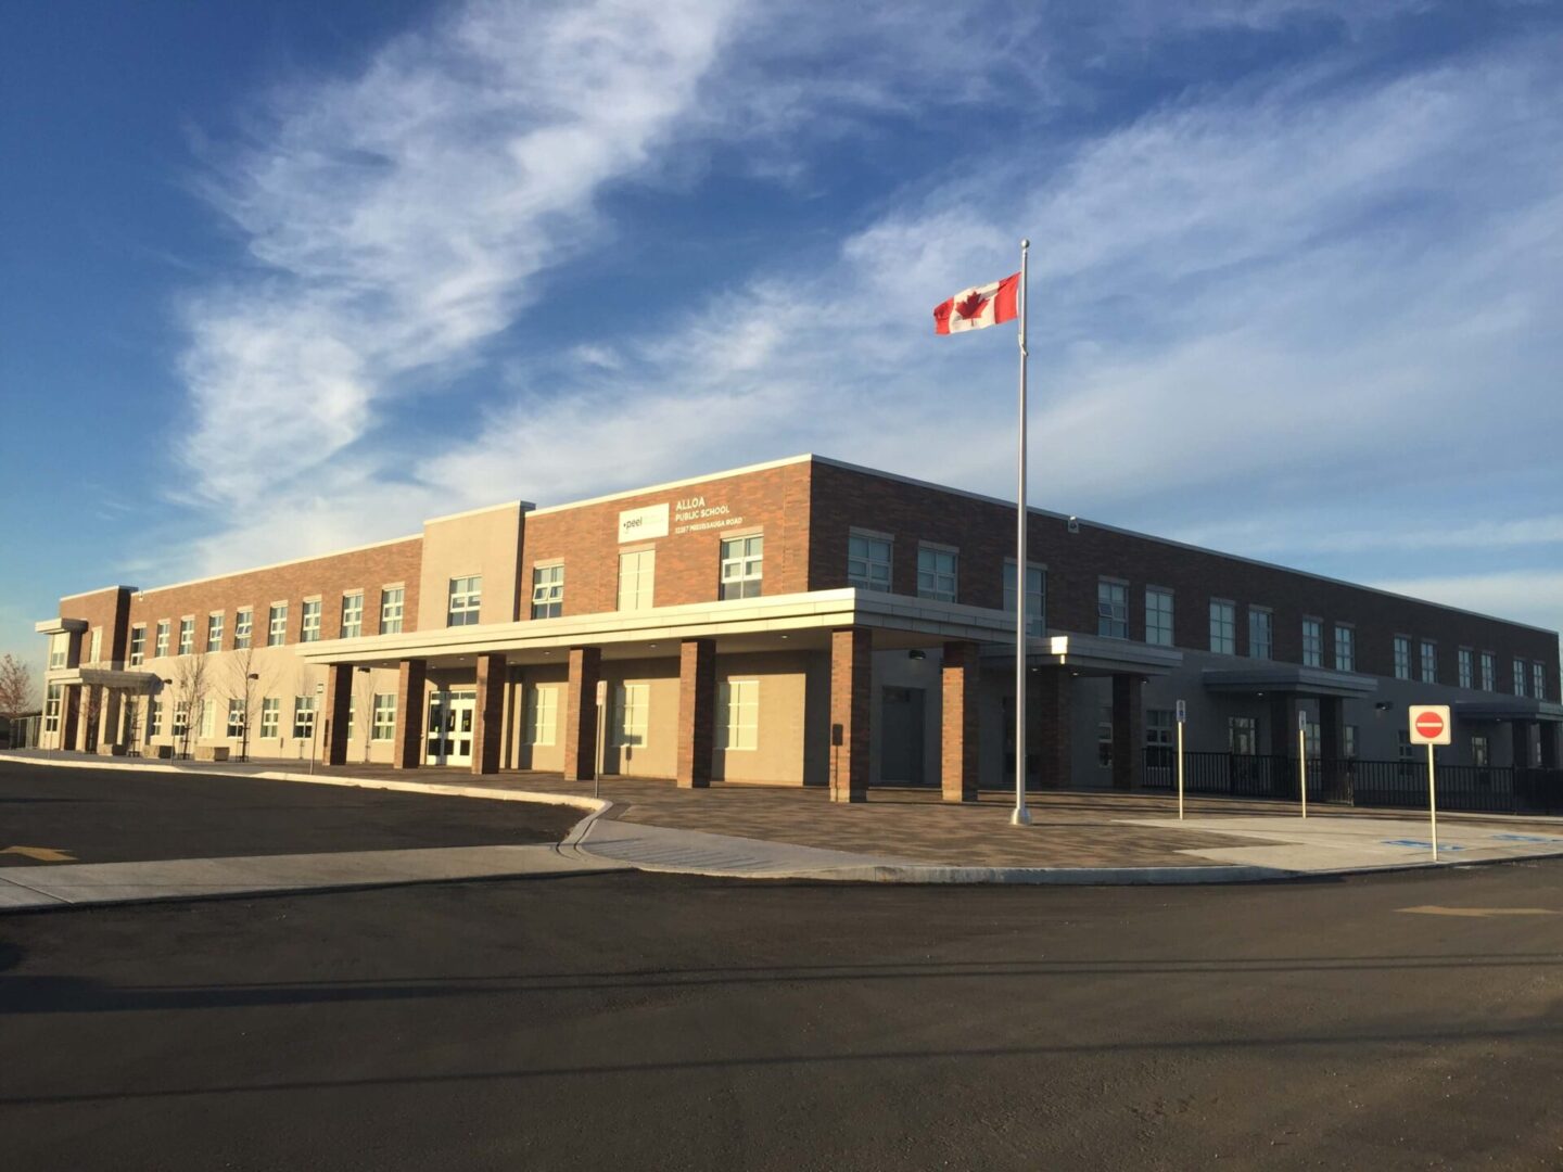
[[(792, 594), (808, 589), (808, 463), (763, 469), (742, 477), (724, 477), (658, 492), (639, 492), (599, 505), (528, 514), (522, 550), (520, 617), (531, 616), (531, 567), (539, 561), (564, 559), (564, 614), (599, 614), (617, 608), (619, 552), (656, 547), (653, 605), (714, 602), (719, 597), (721, 538), (725, 528), (763, 527), (764, 592)], [(619, 514), (647, 505), (677, 505), (705, 497), (705, 508), (727, 513), (694, 523), (713, 528), (680, 533), (678, 509), (669, 516), (666, 538), (619, 544)]]

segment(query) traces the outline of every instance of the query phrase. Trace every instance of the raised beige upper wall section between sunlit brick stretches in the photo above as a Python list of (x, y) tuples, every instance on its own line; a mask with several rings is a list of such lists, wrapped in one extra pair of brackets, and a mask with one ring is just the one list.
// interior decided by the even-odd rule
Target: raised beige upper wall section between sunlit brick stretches
[(424, 566), (417, 591), (420, 631), (444, 630), (450, 580), (483, 575), (483, 624), (516, 619), (516, 575), (520, 566), (520, 505), (467, 513), (424, 523)]

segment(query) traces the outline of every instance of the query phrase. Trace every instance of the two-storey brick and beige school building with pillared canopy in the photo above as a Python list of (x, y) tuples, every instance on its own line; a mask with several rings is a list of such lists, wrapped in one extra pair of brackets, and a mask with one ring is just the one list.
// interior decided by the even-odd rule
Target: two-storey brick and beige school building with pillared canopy
[(1024, 595), (1036, 786), (1169, 784), (1179, 700), (1196, 791), (1296, 792), (1302, 728), (1310, 786), (1361, 800), (1419, 759), (1408, 703), (1452, 706), (1471, 784), (1558, 770), (1554, 631), (1028, 523), (1018, 573), (1013, 505), (807, 455), (109, 586), (38, 624), (42, 744), (969, 800), (1011, 784)]

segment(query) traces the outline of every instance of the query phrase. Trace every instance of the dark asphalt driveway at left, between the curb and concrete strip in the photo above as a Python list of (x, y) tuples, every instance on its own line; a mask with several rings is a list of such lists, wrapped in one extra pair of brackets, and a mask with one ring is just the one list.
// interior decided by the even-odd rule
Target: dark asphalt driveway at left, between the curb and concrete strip
[(0, 761), (0, 866), (558, 842), (580, 817), (524, 802)]

